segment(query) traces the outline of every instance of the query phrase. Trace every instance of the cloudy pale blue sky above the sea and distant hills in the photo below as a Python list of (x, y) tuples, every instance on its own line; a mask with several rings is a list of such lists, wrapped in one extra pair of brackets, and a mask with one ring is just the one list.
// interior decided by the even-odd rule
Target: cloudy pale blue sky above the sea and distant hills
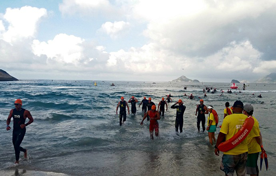
[(254, 81), (276, 72), (276, 0), (2, 0), (18, 79)]

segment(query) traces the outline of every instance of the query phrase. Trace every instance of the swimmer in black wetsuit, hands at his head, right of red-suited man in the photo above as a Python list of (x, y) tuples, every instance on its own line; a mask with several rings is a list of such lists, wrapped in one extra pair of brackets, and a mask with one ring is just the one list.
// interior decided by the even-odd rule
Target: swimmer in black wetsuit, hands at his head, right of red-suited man
[(186, 110), (186, 106), (183, 105), (183, 102), (181, 99), (179, 99), (178, 102), (176, 102), (173, 106), (171, 106), (172, 109), (176, 109), (176, 119), (175, 119), (175, 131), (176, 134), (178, 134), (178, 127), (180, 130), (180, 133), (182, 133), (183, 129), (183, 115)]

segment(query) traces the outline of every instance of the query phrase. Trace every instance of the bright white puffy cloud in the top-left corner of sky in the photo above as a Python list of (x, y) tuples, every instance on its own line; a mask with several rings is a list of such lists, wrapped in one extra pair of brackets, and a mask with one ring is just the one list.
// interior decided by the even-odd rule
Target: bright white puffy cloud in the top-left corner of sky
[(0, 39), (14, 43), (18, 40), (34, 38), (37, 33), (38, 24), (43, 17), (47, 17), (47, 10), (44, 8), (39, 9), (30, 6), (25, 6), (20, 9), (7, 8), (6, 14), (4, 15), (4, 23), (8, 23), (8, 29), (4, 31), (3, 22), (2, 25), (0, 23), (0, 30), (4, 31), (0, 35)]

